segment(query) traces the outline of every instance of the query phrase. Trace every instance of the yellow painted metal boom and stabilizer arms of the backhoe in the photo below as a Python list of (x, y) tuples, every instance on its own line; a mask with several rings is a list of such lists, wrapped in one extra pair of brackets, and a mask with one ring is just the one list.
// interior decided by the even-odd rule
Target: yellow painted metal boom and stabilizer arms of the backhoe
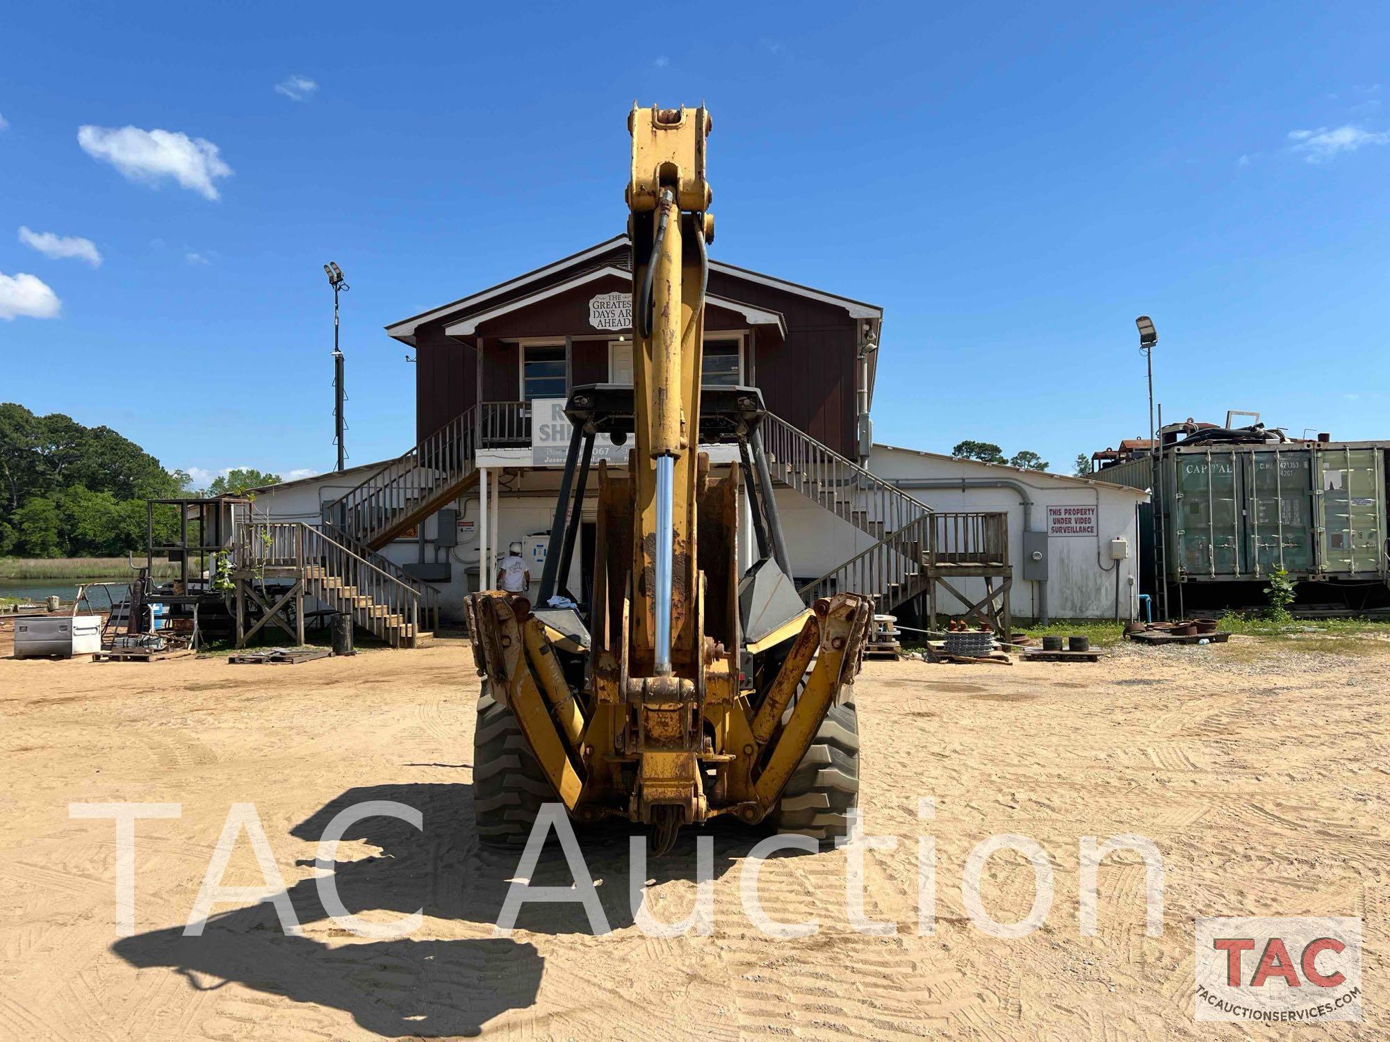
[[(648, 821), (664, 845), (673, 825), (716, 814), (752, 822), (776, 807), (859, 668), (872, 606), (841, 593), (742, 645), (739, 472), (735, 467), (713, 477), (698, 445), (703, 246), (713, 233), (705, 179), (709, 115), (703, 108), (634, 108), (628, 126), (634, 315), (644, 314), (646, 285), (652, 307), (649, 328), (645, 318), (635, 322), (628, 465), (626, 472), (598, 467), (589, 646), (537, 617), (518, 620), (516, 609), (524, 606), (500, 590), (468, 597), (466, 611), (477, 622), (480, 665), (573, 816)], [(674, 471), (673, 671), (653, 677), (655, 485), (663, 456)], [(766, 671), (749, 670), (759, 678), (759, 690), (749, 690), (745, 656), (783, 649), (778, 675), (763, 689)], [(582, 688), (569, 686), (557, 654), (588, 657)]]

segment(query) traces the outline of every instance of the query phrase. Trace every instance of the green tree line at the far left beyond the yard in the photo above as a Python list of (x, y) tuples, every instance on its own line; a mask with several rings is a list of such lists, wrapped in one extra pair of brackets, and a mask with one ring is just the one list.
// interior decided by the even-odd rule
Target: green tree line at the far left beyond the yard
[[(145, 549), (147, 499), (240, 493), (279, 477), (256, 470), (220, 475), (193, 490), (110, 427), (63, 413), (35, 415), (0, 404), (0, 556), (118, 557)], [(156, 543), (178, 538), (178, 511), (156, 510)]]

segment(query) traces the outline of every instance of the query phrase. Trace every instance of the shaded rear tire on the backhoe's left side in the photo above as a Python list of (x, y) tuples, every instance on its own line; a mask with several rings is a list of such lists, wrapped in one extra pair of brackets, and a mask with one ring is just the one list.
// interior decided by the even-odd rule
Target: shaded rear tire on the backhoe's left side
[(523, 846), (541, 804), (552, 800), (555, 789), (531, 754), (521, 725), (484, 681), (473, 732), (473, 820), (478, 839), (489, 846)]

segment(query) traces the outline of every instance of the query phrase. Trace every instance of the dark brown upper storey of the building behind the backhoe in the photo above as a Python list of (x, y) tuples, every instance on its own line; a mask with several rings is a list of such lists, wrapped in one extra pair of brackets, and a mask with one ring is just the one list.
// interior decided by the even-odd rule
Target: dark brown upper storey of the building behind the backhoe
[[(416, 349), (417, 436), (484, 403), (484, 422), (524, 440), (524, 403), (630, 382), (630, 263), (620, 235), (388, 325)], [(712, 260), (705, 382), (758, 386), (771, 413), (862, 458), (881, 322), (873, 304)]]

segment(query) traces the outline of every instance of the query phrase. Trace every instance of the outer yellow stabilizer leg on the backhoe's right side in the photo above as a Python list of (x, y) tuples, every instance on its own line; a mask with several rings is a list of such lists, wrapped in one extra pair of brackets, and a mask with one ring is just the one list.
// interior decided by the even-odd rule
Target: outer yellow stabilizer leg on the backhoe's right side
[[(819, 602), (817, 602), (819, 603)], [(872, 602), (858, 593), (837, 593), (830, 599), (824, 613), (820, 615), (820, 657), (816, 668), (806, 678), (796, 699), (796, 709), (792, 710), (791, 720), (783, 727), (773, 746), (763, 771), (753, 786), (758, 802), (763, 807), (771, 804), (781, 795), (791, 772), (796, 770), (801, 757), (806, 754), (820, 722), (830, 711), (835, 696), (841, 693), (844, 684), (853, 677), (845, 672), (858, 668), (858, 659), (863, 652), (869, 621), (873, 618)]]

